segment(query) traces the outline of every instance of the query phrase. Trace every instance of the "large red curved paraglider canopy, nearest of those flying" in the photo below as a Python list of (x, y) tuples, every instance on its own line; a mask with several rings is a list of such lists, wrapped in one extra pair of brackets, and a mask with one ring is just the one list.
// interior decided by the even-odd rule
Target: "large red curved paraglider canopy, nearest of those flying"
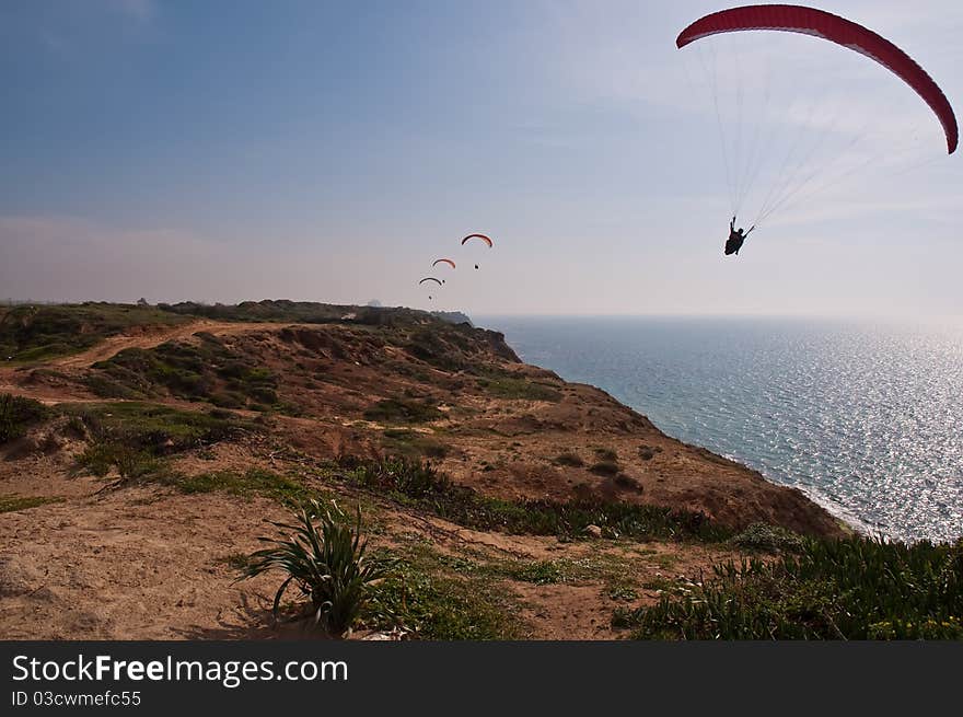
[(814, 35), (875, 60), (900, 77), (924, 99), (943, 126), (950, 154), (955, 151), (959, 141), (956, 117), (953, 115), (949, 100), (932, 78), (893, 43), (839, 15), (802, 5), (766, 4), (732, 8), (697, 20), (680, 33), (675, 44), (682, 48), (709, 35), (750, 30), (776, 30)]

